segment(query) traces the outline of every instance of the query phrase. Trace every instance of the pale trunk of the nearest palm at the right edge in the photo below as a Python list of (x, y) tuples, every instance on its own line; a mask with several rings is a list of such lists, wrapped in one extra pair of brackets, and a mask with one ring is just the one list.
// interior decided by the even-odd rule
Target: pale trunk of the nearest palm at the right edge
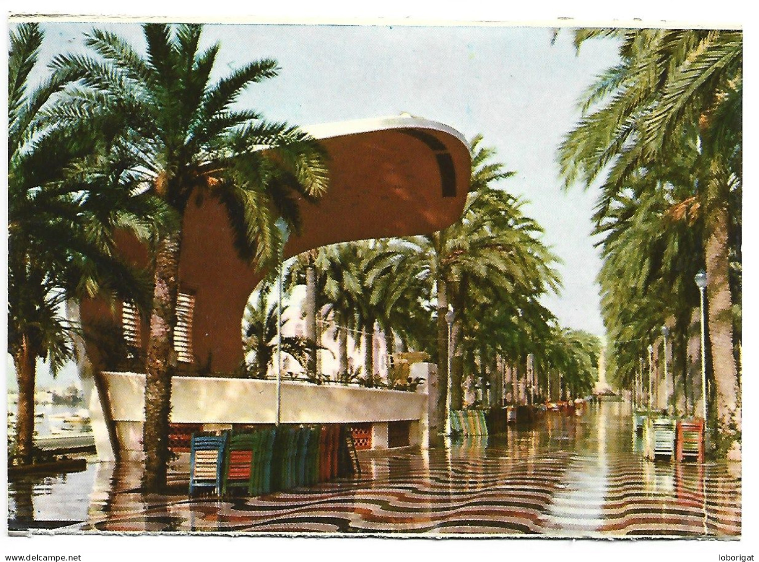
[[(723, 199), (725, 200), (725, 199)], [(740, 456), (736, 440), (741, 431), (735, 355), (732, 346), (732, 296), (729, 286), (729, 216), (724, 205), (710, 209), (707, 222), (706, 265), (709, 341), (716, 386), (717, 438), (731, 457)], [(718, 444), (720, 444), (718, 442)]]

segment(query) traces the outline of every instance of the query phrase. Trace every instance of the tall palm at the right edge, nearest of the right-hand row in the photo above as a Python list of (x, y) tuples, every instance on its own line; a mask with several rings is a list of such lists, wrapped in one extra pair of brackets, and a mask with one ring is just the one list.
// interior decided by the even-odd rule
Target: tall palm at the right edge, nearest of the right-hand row
[[(606, 176), (600, 215), (631, 174), (666, 166), (696, 140), (695, 203), (704, 215), (709, 338), (717, 425), (739, 438), (740, 403), (730, 287), (730, 202), (742, 189), (742, 33), (730, 30), (581, 30), (617, 36), (621, 61), (589, 89), (584, 117), (562, 144), (566, 185)], [(682, 202), (674, 202), (675, 205)], [(739, 454), (737, 442), (733, 454)]]

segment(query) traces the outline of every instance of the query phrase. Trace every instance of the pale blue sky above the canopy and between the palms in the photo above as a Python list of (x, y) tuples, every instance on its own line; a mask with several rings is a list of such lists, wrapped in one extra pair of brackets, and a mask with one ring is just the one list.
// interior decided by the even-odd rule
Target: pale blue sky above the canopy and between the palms
[[(82, 33), (92, 27), (46, 24), (40, 59), (83, 49)], [(142, 40), (136, 24), (99, 27), (135, 45)], [(553, 45), (552, 36), (550, 28), (492, 26), (215, 24), (204, 31), (206, 44), (222, 44), (220, 74), (254, 58), (279, 61), (279, 77), (241, 99), (271, 120), (306, 125), (408, 111), (468, 138), (483, 133), (499, 160), (517, 171), (504, 187), (530, 200), (525, 212), (543, 225), (545, 242), (563, 261), (564, 289), (546, 306), (562, 325), (602, 335), (600, 259), (589, 236), (596, 193), (562, 190), (556, 148), (579, 117), (578, 97), (616, 62), (616, 49), (593, 41), (578, 54), (570, 30)]]

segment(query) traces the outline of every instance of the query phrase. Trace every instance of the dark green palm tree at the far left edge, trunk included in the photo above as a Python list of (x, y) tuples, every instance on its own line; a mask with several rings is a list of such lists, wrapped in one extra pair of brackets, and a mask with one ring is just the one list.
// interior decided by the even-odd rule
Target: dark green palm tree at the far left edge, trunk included
[[(115, 293), (145, 303), (139, 272), (115, 257), (115, 228), (146, 235), (165, 206), (131, 196), (128, 159), (82, 124), (51, 126), (43, 118), (76, 72), (58, 72), (35, 89), (28, 81), (43, 32), (21, 24), (8, 58), (8, 350), (19, 404), (16, 447), (21, 463), (33, 453), (36, 359), (53, 373), (74, 354), (80, 326), (65, 318), (66, 300)], [(151, 218), (152, 217), (152, 218)]]

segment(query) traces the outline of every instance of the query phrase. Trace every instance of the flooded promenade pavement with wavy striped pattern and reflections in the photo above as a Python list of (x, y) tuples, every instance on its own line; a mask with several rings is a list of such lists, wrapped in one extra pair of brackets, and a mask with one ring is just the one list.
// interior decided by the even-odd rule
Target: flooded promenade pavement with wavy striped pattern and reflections
[(12, 482), (9, 520), (56, 532), (740, 536), (739, 466), (654, 463), (639, 447), (629, 405), (601, 403), (258, 498), (140, 494), (139, 466), (93, 463), (66, 482)]

